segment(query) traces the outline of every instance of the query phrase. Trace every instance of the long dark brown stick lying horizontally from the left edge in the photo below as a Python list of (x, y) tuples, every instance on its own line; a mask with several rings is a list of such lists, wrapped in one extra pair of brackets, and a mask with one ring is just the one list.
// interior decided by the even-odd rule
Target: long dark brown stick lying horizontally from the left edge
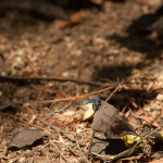
[(0, 82), (40, 82), (40, 80), (57, 80), (57, 82), (72, 82), (77, 84), (86, 84), (92, 86), (103, 86), (101, 83), (89, 82), (89, 80), (79, 80), (75, 78), (65, 78), (65, 77), (13, 77), (13, 76), (0, 76)]

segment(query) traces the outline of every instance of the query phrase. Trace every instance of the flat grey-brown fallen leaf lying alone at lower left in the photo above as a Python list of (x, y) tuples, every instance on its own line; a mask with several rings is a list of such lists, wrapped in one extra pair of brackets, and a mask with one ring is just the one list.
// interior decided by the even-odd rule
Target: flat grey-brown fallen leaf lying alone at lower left
[(23, 129), (16, 131), (11, 141), (8, 145), (8, 149), (15, 147), (15, 148), (23, 148), (26, 146), (33, 145), (36, 140), (41, 139), (45, 136), (49, 136), (48, 133), (39, 131), (36, 129)]

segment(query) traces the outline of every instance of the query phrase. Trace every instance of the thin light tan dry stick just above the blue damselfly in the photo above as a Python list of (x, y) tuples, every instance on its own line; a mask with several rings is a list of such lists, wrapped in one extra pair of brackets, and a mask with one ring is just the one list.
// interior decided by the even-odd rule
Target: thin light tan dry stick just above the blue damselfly
[(113, 89), (113, 88), (115, 88), (115, 86), (116, 85), (113, 85), (113, 86), (110, 86), (110, 87), (106, 87), (106, 88), (103, 88), (103, 89), (100, 89), (100, 90), (97, 90), (97, 91), (92, 91), (92, 92), (89, 92), (89, 93), (85, 93), (85, 95), (82, 95), (82, 96), (77, 96), (77, 97), (55, 99), (55, 100), (43, 100), (43, 101), (38, 101), (38, 103), (50, 103), (50, 102), (53, 103), (53, 102), (61, 102), (61, 101), (74, 101), (74, 100), (77, 100), (77, 99), (83, 99), (83, 98), (86, 98), (86, 97), (89, 97), (89, 96), (98, 95), (98, 93), (101, 93), (103, 91)]

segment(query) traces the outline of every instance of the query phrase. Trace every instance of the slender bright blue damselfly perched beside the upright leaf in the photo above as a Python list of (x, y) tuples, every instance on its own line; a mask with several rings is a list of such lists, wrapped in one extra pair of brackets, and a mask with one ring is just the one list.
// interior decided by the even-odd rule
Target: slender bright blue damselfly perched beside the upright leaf
[(50, 113), (50, 115), (53, 115), (53, 114), (55, 114), (55, 113), (61, 113), (61, 112), (64, 112), (64, 111), (67, 111), (67, 110), (72, 110), (72, 109), (74, 109), (74, 108), (77, 108), (77, 106), (80, 106), (80, 105), (85, 105), (85, 104), (88, 104), (88, 103), (98, 102), (98, 101), (100, 101), (99, 98), (97, 98), (97, 99), (89, 99), (87, 102), (84, 102), (84, 103), (82, 103), (82, 104), (74, 105), (74, 106), (71, 106), (71, 108), (65, 108), (65, 109), (60, 110), (60, 111), (52, 112), (52, 113)]

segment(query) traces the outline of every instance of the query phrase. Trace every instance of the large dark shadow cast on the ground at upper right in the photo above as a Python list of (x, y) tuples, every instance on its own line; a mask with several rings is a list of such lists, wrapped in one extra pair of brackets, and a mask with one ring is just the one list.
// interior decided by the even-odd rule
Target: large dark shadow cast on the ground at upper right
[[(160, 21), (162, 18), (162, 21)], [(153, 26), (158, 23), (158, 26)], [(162, 60), (163, 51), (163, 36), (160, 33), (162, 28), (163, 33), (163, 7), (161, 7), (154, 14), (147, 14), (140, 16), (134, 21), (131, 25), (126, 29), (127, 36), (123, 37), (117, 34), (109, 36), (108, 39), (114, 40), (120, 43), (122, 48), (127, 48), (131, 51), (139, 52), (143, 55), (143, 60), (138, 64), (133, 65), (109, 65), (96, 71), (98, 78), (108, 78), (116, 82), (125, 79), (131, 75), (133, 70), (145, 70), (146, 67), (155, 66), (155, 62), (159, 63)], [(153, 36), (156, 33), (156, 36)]]

